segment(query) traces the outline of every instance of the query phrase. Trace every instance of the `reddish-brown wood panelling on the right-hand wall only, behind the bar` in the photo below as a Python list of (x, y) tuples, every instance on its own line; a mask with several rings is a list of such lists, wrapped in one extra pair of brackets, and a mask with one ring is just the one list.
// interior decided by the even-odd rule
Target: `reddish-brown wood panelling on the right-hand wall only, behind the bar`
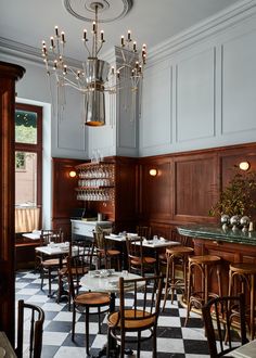
[(178, 223), (218, 222), (208, 212), (243, 161), (256, 169), (256, 143), (140, 158), (139, 220), (167, 238)]

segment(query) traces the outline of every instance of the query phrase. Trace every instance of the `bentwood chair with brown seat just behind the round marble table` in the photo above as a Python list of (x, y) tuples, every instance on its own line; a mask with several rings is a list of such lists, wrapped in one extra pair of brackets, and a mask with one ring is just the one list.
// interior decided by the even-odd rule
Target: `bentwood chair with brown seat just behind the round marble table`
[(148, 272), (157, 272), (156, 259), (143, 254), (143, 238), (126, 238), (129, 272), (139, 273), (142, 277)]

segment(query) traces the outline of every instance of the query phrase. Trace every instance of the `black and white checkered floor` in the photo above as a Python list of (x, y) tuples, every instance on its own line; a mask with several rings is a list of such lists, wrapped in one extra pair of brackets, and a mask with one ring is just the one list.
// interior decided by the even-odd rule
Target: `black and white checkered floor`
[[(47, 283), (47, 280), (46, 280)], [(56, 282), (53, 290), (56, 289)], [(35, 271), (16, 272), (16, 301), (24, 299), (40, 306), (46, 312), (42, 358), (78, 358), (86, 357), (84, 317), (77, 315), (76, 342), (72, 342), (72, 312), (66, 302), (56, 304), (48, 296), (48, 285), (40, 290), (40, 279)], [(106, 323), (102, 317), (102, 332), (98, 334), (97, 315), (91, 315), (90, 344), (91, 354), (97, 355), (106, 342)], [(166, 309), (158, 319), (157, 357), (158, 358), (204, 358), (208, 356), (207, 342), (204, 336), (200, 316), (191, 314), (184, 325), (185, 309), (175, 301), (166, 304)], [(151, 357), (151, 344), (142, 345), (141, 358)], [(127, 356), (128, 357), (128, 356)], [(136, 357), (129, 356), (129, 357)]]

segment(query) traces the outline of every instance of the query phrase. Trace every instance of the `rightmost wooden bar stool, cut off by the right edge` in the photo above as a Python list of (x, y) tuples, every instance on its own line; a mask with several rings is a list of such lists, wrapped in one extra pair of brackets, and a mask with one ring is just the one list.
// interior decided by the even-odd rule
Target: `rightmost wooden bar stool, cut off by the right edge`
[(229, 266), (229, 295), (232, 294), (235, 286), (235, 277), (241, 280), (242, 293), (249, 292), (249, 336), (255, 336), (255, 278), (256, 266), (249, 263), (230, 264)]

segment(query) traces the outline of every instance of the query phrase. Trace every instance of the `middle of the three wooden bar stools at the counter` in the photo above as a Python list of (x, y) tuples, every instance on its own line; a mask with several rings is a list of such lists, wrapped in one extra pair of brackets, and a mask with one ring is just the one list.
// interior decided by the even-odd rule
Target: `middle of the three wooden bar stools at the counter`
[[(190, 311), (192, 306), (195, 308), (202, 308), (210, 297), (218, 297), (217, 294), (209, 292), (209, 277), (213, 272), (213, 269), (216, 268), (217, 280), (218, 280), (218, 291), (219, 296), (221, 296), (221, 284), (220, 284), (220, 272), (219, 266), (221, 258), (215, 255), (203, 255), (203, 256), (191, 256), (189, 257), (189, 282), (188, 282), (188, 308), (187, 308), (187, 318), (184, 325), (187, 325)], [(201, 273), (202, 279), (202, 291), (193, 291), (193, 282), (195, 276), (195, 269), (197, 268), (196, 272)]]

